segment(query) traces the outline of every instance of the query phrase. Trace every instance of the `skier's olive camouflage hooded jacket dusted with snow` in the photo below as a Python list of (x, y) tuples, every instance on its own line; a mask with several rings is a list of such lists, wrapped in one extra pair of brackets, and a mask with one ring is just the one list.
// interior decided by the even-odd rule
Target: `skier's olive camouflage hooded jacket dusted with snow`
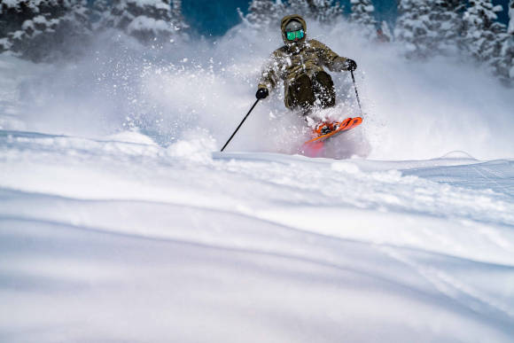
[[(300, 21), (306, 32), (306, 35), (298, 42), (288, 41), (285, 36), (285, 26), (293, 19)], [(316, 72), (322, 71), (323, 66), (331, 72), (347, 70), (347, 58), (339, 57), (337, 53), (331, 51), (323, 43), (314, 39), (308, 40), (306, 38), (307, 23), (298, 14), (284, 17), (281, 28), (285, 45), (271, 54), (263, 68), (259, 88), (271, 90), (276, 87), (280, 80), (284, 81), (284, 99), (287, 106), (288, 86), (300, 74), (307, 74), (310, 77)]]

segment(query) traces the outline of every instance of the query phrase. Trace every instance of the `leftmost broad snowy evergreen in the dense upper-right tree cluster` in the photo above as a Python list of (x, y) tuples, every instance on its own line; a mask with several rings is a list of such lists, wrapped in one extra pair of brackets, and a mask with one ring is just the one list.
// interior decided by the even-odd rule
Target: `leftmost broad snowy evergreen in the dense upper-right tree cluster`
[(400, 0), (398, 12), (394, 35), (397, 41), (405, 43), (407, 56), (430, 56), (437, 36), (430, 22), (432, 0)]

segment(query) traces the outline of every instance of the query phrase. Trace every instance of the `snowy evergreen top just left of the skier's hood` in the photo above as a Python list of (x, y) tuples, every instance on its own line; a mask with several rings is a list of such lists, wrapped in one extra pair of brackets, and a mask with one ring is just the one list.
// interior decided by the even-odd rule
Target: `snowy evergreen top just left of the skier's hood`
[(239, 11), (239, 16), (252, 27), (278, 27), (284, 17), (285, 6), (280, 0), (253, 0), (248, 14)]

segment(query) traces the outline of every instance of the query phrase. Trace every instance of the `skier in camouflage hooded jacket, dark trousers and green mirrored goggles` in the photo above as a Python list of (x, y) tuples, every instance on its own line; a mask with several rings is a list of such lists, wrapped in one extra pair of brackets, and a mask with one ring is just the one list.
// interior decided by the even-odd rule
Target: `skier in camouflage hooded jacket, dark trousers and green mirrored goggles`
[(284, 81), (284, 103), (289, 109), (300, 109), (308, 114), (314, 106), (336, 105), (336, 92), (331, 72), (354, 71), (353, 59), (339, 57), (329, 47), (314, 39), (307, 39), (307, 23), (298, 14), (285, 16), (281, 23), (285, 45), (277, 49), (263, 69), (256, 97), (269, 96), (269, 90)]

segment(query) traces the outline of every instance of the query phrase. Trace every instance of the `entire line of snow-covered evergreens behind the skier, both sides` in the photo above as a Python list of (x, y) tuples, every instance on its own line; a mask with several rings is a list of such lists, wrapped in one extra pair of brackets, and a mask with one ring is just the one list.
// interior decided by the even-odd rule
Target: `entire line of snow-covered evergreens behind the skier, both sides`
[[(471, 55), (505, 81), (514, 81), (514, 0), (509, 27), (497, 21), (492, 0), (398, 0), (391, 34), (375, 19), (372, 0), (350, 0), (349, 21), (383, 42), (401, 43), (408, 58), (450, 53)], [(277, 26), (284, 14), (300, 13), (331, 24), (346, 19), (333, 0), (253, 0), (241, 18), (250, 27)], [(36, 62), (80, 55), (91, 37), (121, 31), (140, 43), (173, 43), (187, 24), (181, 0), (13, 0), (0, 3), (0, 52)]]

